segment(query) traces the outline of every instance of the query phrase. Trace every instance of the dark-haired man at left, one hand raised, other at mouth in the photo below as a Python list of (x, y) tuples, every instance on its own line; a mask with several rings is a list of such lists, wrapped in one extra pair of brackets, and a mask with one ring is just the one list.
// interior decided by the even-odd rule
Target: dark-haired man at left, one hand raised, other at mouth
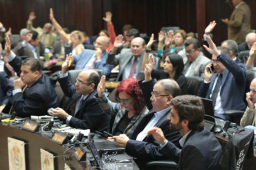
[(6, 36), (6, 56), (17, 72), (19, 79), (13, 82), (12, 111), (17, 116), (42, 116), (51, 107), (57, 107), (57, 94), (50, 78), (42, 73), (42, 65), (32, 57), (22, 61), (10, 50), (10, 39)]

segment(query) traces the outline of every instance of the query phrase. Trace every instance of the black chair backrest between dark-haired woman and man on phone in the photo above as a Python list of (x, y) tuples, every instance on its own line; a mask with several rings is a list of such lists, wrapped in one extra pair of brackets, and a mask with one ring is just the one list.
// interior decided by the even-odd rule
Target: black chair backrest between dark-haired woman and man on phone
[(188, 83), (188, 94), (196, 95), (202, 82), (201, 77), (186, 76)]

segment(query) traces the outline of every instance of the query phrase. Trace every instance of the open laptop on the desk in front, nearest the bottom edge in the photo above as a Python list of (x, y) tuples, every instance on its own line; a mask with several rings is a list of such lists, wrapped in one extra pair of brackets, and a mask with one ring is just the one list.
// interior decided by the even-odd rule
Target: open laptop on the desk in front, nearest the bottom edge
[[(128, 160), (128, 162), (127, 161), (122, 162), (122, 160), (118, 160), (118, 155), (115, 156), (115, 158), (112, 158), (111, 162), (104, 163), (102, 161), (100, 153), (98, 152), (97, 148), (95, 147), (95, 143), (90, 135), (87, 138), (87, 147), (91, 151), (91, 154), (95, 160), (96, 166), (99, 167), (100, 169), (120, 169), (120, 170), (138, 169), (138, 166), (135, 164), (134, 161)], [(129, 158), (131, 158), (131, 157), (129, 157)]]

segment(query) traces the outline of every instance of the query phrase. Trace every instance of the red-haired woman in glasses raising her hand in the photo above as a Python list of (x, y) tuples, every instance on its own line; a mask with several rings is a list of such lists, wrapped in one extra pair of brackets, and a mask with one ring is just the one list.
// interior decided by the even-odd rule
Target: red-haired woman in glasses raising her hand
[(143, 98), (143, 92), (138, 86), (136, 78), (127, 78), (116, 87), (116, 100), (113, 103), (104, 94), (105, 76), (102, 76), (98, 84), (96, 100), (106, 113), (115, 117), (112, 134), (126, 134), (129, 138), (140, 120), (147, 114), (148, 109)]

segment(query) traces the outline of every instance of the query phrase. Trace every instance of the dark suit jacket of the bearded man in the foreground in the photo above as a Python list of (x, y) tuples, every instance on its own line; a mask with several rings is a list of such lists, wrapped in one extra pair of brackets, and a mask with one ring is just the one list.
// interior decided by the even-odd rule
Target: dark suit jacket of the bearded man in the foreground
[(192, 130), (185, 139), (182, 149), (172, 142), (167, 142), (159, 152), (164, 156), (179, 162), (181, 169), (217, 169), (221, 156), (221, 145), (215, 136), (207, 129)]

